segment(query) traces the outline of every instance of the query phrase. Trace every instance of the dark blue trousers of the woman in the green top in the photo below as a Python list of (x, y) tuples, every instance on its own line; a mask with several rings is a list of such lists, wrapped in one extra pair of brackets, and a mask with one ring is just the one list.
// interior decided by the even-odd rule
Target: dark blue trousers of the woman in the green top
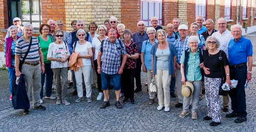
[(44, 97), (45, 77), (46, 77), (45, 94), (46, 94), (47, 97), (50, 97), (51, 94), (52, 94), (52, 82), (53, 82), (53, 72), (52, 72), (52, 69), (51, 69), (51, 63), (45, 63), (45, 73), (41, 74), (40, 99), (42, 99), (42, 97)]

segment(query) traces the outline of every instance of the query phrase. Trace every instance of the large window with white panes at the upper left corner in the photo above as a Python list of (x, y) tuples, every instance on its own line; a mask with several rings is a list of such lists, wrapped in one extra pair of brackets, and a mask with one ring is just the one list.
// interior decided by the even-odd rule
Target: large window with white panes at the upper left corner
[(19, 17), (22, 24), (31, 23), (34, 28), (39, 28), (41, 24), (41, 1), (40, 0), (8, 0), (9, 26), (12, 19)]

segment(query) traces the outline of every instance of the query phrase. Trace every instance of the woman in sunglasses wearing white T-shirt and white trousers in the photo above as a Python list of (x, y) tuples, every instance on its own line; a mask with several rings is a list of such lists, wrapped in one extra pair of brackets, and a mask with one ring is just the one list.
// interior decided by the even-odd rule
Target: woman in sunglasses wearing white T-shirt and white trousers
[(84, 79), (84, 84), (86, 85), (86, 97), (87, 102), (92, 102), (92, 86), (91, 86), (91, 71), (92, 71), (92, 62), (91, 58), (93, 56), (92, 44), (84, 38), (86, 38), (86, 32), (82, 29), (77, 30), (76, 37), (79, 39), (73, 44), (73, 52), (79, 53), (77, 59), (82, 59), (82, 67), (79, 67), (75, 72), (76, 78), (76, 87), (78, 98), (75, 102), (80, 102), (83, 100), (83, 89), (82, 89), (82, 74)]

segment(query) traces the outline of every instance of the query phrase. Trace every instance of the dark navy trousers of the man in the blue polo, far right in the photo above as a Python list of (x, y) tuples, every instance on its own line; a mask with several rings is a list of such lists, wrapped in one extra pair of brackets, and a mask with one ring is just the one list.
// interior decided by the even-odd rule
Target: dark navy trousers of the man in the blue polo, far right
[(240, 66), (236, 68), (229, 67), (230, 80), (237, 80), (237, 88), (233, 88), (229, 92), (231, 98), (231, 109), (234, 113), (241, 117), (246, 117), (246, 100), (244, 85), (247, 78), (247, 66)]

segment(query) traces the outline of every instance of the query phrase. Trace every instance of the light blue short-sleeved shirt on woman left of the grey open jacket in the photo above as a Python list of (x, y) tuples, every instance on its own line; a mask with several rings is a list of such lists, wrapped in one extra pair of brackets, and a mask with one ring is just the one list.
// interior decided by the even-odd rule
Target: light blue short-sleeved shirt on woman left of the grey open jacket
[[(156, 44), (156, 43), (158, 43), (157, 39), (155, 39), (154, 44)], [(151, 48), (152, 48), (153, 45), (150, 43), (150, 40), (146, 40), (142, 43), (141, 52), (145, 53), (145, 55), (144, 55), (144, 64), (145, 64), (145, 67), (146, 67), (147, 70), (152, 70), (152, 68), (151, 68), (152, 67), (151, 66), (152, 55), (150, 54), (150, 52), (151, 52)]]

